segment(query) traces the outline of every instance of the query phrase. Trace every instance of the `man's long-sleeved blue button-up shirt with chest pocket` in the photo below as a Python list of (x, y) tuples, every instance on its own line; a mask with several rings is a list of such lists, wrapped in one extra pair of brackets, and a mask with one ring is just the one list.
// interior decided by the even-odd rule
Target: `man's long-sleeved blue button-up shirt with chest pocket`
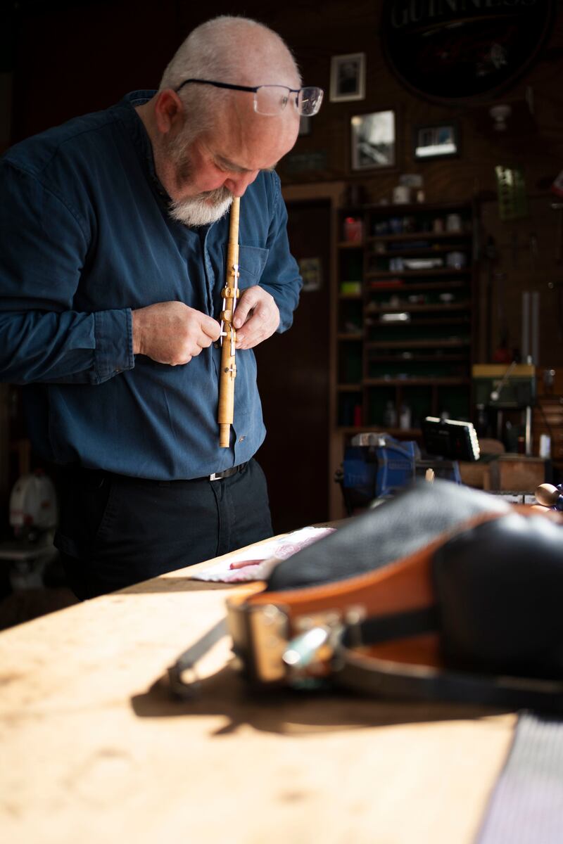
[[(180, 366), (133, 355), (132, 309), (178, 300), (219, 317), (228, 216), (167, 214), (136, 91), (15, 145), (0, 162), (0, 378), (26, 385), (28, 430), (54, 463), (188, 479), (249, 460), (265, 430), (252, 349), (237, 351), (231, 447), (219, 448), (220, 349)], [(241, 288), (290, 327), (301, 279), (279, 178), (241, 199)], [(266, 341), (268, 342), (268, 341)]]

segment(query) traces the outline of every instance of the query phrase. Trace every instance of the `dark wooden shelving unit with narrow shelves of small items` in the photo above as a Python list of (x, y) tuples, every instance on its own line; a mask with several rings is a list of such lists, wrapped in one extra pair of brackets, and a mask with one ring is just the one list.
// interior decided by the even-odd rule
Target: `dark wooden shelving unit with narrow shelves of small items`
[(336, 430), (420, 438), (427, 415), (471, 419), (471, 203), (340, 208)]

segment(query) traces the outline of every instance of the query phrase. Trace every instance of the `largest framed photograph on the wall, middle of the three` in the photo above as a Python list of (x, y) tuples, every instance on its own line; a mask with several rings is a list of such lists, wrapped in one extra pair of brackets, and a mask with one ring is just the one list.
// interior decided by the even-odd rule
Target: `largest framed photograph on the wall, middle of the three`
[(350, 119), (352, 170), (395, 165), (395, 112), (372, 111)]

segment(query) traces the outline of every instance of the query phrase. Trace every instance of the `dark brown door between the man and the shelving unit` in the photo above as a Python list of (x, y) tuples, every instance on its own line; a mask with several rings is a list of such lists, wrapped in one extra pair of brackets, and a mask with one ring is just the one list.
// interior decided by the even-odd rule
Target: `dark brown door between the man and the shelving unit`
[(287, 202), (290, 248), (305, 284), (294, 324), (256, 349), (274, 533), (328, 520), (331, 202)]

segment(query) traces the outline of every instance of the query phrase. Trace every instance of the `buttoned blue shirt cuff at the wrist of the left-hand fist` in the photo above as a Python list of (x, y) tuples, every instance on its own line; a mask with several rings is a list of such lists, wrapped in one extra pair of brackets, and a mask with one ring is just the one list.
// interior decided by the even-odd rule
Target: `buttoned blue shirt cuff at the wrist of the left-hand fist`
[(94, 314), (95, 371), (98, 382), (107, 381), (135, 365), (131, 308), (96, 311)]

